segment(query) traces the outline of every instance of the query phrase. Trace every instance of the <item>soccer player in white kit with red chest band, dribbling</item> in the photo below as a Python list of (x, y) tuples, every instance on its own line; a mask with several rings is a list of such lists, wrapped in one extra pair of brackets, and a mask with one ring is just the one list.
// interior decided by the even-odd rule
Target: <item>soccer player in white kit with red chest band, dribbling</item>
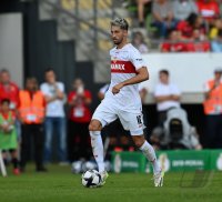
[(111, 21), (111, 38), (115, 44), (110, 51), (111, 84), (89, 125), (92, 152), (103, 185), (108, 173), (104, 169), (101, 130), (119, 118), (123, 128), (130, 131), (135, 145), (152, 163), (154, 186), (162, 186), (164, 173), (158, 164), (152, 145), (147, 142), (143, 134), (142, 104), (138, 83), (148, 80), (149, 72), (140, 52), (127, 41), (128, 28), (129, 24), (124, 19), (117, 18)]

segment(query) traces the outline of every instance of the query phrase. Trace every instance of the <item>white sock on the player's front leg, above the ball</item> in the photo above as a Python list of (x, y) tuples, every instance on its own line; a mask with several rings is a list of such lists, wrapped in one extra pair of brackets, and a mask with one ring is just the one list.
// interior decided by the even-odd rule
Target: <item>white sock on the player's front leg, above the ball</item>
[(99, 172), (104, 171), (104, 150), (101, 131), (90, 131), (92, 153), (98, 164)]

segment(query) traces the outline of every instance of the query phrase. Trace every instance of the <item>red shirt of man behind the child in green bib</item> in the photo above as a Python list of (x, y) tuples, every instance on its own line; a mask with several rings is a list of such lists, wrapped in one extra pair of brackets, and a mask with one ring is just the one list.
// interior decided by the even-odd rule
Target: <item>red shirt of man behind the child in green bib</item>
[(10, 100), (10, 109), (14, 110), (19, 107), (19, 88), (16, 83), (10, 82), (9, 85), (0, 83), (0, 101), (3, 99)]

